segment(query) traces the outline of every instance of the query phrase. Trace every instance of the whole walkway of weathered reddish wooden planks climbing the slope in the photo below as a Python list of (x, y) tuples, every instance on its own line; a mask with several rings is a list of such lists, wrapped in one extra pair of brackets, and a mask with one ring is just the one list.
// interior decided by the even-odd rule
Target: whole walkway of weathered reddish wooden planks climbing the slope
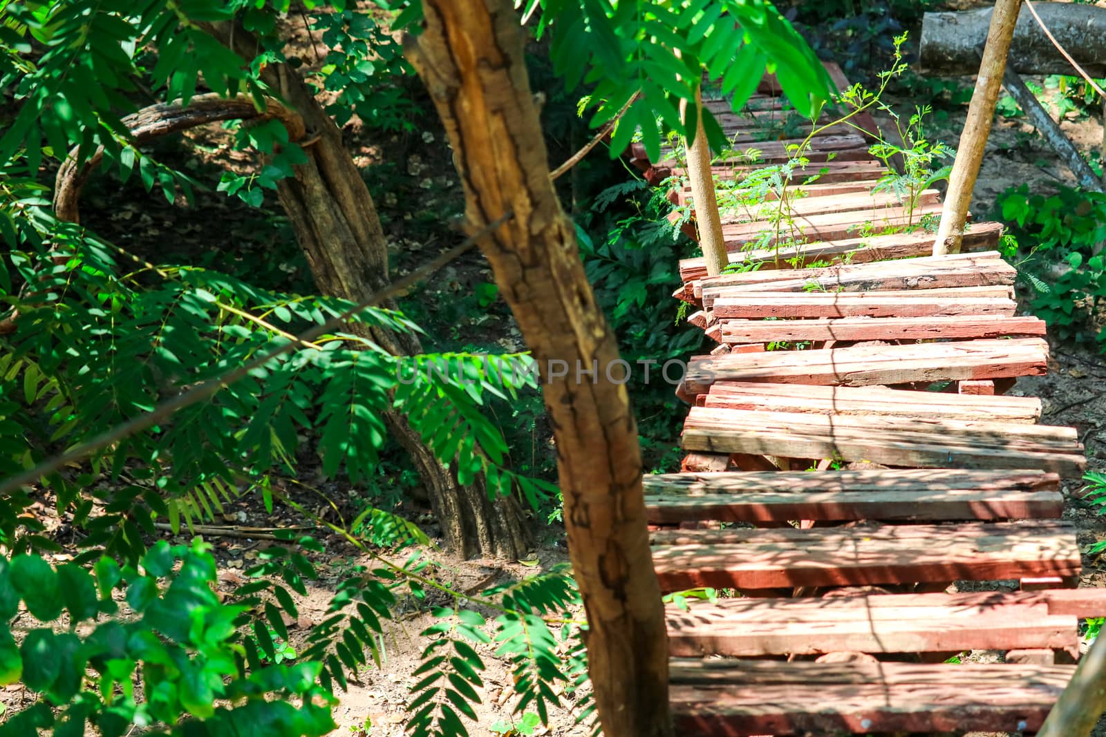
[[(786, 107), (773, 92), (747, 115), (707, 103), (762, 156), (719, 162), (723, 181), (799, 143), (755, 140)], [(630, 150), (655, 185), (682, 173)], [(647, 476), (646, 503), (662, 589), (720, 598), (668, 606), (677, 734), (1032, 733), (1075, 667), (1078, 618), (1106, 613), (1106, 593), (1073, 588), (1061, 520), (1083, 446), (1037, 424), (1039, 399), (1003, 396), (1046, 370), (1044, 324), (1016, 314), (998, 223), (931, 256), (933, 233), (901, 227), (939, 213), (936, 192), (912, 212), (875, 192), (858, 135), (808, 158), (799, 176), (826, 172), (799, 188), (789, 238), (749, 250), (768, 221), (723, 221), (731, 262), (758, 270), (680, 263), (675, 296), (717, 347), (678, 391), (684, 470)], [(1005, 662), (946, 662), (970, 650)]]

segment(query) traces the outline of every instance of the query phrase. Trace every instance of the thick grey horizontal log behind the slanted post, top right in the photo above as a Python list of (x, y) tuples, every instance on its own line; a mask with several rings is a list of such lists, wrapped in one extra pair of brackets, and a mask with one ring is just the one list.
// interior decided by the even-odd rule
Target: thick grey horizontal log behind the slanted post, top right
[[(1060, 44), (1091, 76), (1106, 76), (1106, 8), (1075, 2), (1034, 2), (1033, 7)], [(919, 51), (922, 72), (974, 74), (992, 11), (992, 8), (981, 8), (926, 13), (921, 21)], [(1075, 74), (1029, 8), (1022, 8), (1018, 15), (1010, 64), (1019, 74)]]

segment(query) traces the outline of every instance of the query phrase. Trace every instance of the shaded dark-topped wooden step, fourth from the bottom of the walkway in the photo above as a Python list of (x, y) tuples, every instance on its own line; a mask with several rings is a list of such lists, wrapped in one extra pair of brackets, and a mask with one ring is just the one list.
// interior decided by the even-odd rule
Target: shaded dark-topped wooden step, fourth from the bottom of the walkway
[(734, 472), (645, 477), (650, 524), (1058, 518), (1058, 476), (952, 470)]

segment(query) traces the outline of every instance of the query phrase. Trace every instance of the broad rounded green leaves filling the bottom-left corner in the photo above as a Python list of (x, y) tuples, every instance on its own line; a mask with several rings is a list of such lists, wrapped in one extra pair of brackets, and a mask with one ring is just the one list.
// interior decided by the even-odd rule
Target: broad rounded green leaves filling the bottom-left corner
[[(159, 543), (140, 567), (102, 558), (94, 576), (35, 555), (0, 559), (0, 683), (21, 681), (39, 692), (0, 725), (0, 735), (81, 735), (86, 724), (104, 737), (127, 734), (132, 725), (181, 737), (259, 729), (307, 737), (334, 729), (335, 701), (316, 683), (322, 663), (246, 668), (250, 650), (237, 620), (247, 607), (222, 604), (211, 591), (209, 548)], [(40, 627), (17, 642), (10, 621), (20, 600), (45, 625), (64, 608), (67, 631)]]

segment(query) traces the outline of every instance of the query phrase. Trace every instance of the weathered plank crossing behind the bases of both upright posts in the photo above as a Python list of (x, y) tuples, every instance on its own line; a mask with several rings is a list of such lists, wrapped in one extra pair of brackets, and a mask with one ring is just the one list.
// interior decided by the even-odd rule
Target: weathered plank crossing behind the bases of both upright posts
[[(964, 233), (962, 251), (985, 251), (999, 243), (1002, 224), (994, 222), (974, 223)], [(816, 261), (846, 261), (853, 264), (890, 259), (928, 256), (933, 251), (933, 233), (891, 233), (845, 238), (822, 243), (781, 245), (779, 249), (761, 249), (730, 253), (731, 263), (760, 264), (760, 271), (792, 269), (792, 264), (803, 266)], [(680, 278), (687, 283), (707, 276), (707, 265), (701, 256), (680, 261)]]

